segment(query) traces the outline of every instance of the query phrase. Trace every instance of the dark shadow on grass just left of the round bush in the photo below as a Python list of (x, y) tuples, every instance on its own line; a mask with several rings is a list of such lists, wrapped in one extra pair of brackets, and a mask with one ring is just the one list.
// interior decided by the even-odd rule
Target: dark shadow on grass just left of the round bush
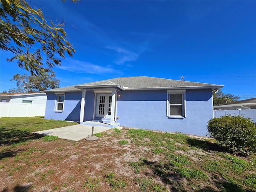
[(229, 152), (227, 148), (224, 148), (217, 143), (212, 143), (207, 140), (188, 138), (186, 139), (186, 141), (190, 147), (196, 147), (206, 151)]

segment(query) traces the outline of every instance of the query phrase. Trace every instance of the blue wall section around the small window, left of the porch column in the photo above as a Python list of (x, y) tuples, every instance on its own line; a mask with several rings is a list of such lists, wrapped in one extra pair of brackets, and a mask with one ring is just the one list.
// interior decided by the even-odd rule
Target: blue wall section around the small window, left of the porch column
[(79, 121), (81, 108), (81, 92), (66, 92), (63, 112), (54, 112), (55, 93), (47, 93), (45, 119)]

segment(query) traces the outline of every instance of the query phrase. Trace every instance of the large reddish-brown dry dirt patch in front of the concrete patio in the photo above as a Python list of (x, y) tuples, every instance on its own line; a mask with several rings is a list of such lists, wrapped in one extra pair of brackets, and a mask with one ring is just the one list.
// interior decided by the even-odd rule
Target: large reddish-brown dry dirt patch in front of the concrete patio
[[(89, 178), (97, 181), (94, 191), (110, 191), (105, 177), (110, 172), (130, 183), (120, 191), (139, 191), (132, 181), (136, 174), (128, 162), (138, 161), (149, 149), (132, 144), (126, 132), (115, 134), (109, 130), (96, 141), (40, 139), (10, 150), (14, 156), (1, 161), (1, 191), (91, 191), (82, 187)], [(120, 145), (119, 140), (129, 143)]]

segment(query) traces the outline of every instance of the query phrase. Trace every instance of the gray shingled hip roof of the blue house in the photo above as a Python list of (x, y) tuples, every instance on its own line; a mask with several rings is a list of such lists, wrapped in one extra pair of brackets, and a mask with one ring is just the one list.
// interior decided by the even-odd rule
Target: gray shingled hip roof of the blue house
[(79, 84), (75, 86), (45, 90), (43, 92), (58, 91), (78, 91), (83, 88), (100, 88), (100, 87), (118, 87), (121, 90), (138, 90), (138, 89), (165, 89), (165, 88), (212, 88), (219, 89), (223, 86), (215, 84), (206, 84), (198, 82), (188, 82), (180, 80), (171, 80), (165, 78), (154, 78), (146, 76), (120, 77), (91, 83)]

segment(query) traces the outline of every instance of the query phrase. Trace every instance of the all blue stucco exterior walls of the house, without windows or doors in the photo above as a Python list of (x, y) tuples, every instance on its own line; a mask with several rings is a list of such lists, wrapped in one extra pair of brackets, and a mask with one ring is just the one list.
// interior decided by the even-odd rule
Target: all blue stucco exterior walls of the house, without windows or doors
[[(166, 90), (118, 92), (117, 122), (120, 126), (206, 136), (213, 118), (211, 89), (186, 90), (186, 117), (167, 117)], [(47, 93), (46, 119), (79, 121), (82, 92), (66, 92), (64, 111), (54, 112), (56, 94)], [(86, 91), (84, 121), (93, 119), (95, 94)]]

